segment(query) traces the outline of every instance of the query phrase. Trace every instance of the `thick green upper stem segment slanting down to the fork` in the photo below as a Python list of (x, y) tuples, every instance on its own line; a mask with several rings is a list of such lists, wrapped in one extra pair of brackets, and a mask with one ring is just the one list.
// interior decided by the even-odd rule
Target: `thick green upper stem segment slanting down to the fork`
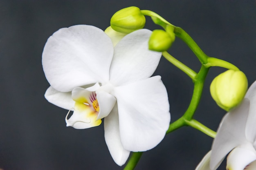
[(200, 49), (198, 44), (191, 38), (191, 36), (186, 33), (182, 28), (175, 26), (174, 33), (177, 37), (182, 39), (189, 48), (193, 51), (193, 53), (198, 57), (202, 64), (207, 64), (208, 56)]

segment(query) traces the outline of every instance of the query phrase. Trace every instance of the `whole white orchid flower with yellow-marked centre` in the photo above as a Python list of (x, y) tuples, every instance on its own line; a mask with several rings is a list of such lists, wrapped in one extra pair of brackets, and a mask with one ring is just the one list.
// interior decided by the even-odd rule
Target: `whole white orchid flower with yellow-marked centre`
[(151, 31), (134, 31), (115, 46), (101, 29), (76, 25), (56, 31), (43, 50), (43, 70), (51, 85), (45, 98), (67, 110), (67, 126), (101, 124), (114, 161), (123, 165), (130, 151), (154, 148), (170, 123), (166, 88), (150, 77), (161, 53), (148, 50)]

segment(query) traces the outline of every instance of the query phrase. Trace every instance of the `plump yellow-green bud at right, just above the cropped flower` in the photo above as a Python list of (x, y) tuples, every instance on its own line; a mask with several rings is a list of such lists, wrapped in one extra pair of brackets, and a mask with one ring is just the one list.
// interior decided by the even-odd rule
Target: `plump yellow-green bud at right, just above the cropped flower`
[(247, 77), (242, 71), (228, 70), (213, 79), (210, 91), (218, 106), (229, 111), (242, 102), (247, 88)]

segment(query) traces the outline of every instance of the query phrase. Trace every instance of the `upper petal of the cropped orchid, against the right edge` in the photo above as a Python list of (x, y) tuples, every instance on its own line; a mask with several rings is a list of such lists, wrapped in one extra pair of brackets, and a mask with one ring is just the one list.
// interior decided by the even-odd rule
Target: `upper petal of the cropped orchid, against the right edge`
[(246, 123), (245, 135), (249, 141), (254, 142), (256, 138), (256, 82), (254, 82), (252, 86), (250, 86), (245, 95), (245, 98), (250, 100), (250, 107), (248, 113), (249, 115)]

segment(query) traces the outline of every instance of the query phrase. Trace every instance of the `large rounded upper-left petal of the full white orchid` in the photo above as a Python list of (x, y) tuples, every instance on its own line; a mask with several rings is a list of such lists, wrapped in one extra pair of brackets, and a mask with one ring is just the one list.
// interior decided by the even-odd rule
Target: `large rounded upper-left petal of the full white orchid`
[(48, 82), (58, 91), (106, 82), (113, 45), (101, 29), (75, 25), (56, 31), (47, 40), (42, 64)]

